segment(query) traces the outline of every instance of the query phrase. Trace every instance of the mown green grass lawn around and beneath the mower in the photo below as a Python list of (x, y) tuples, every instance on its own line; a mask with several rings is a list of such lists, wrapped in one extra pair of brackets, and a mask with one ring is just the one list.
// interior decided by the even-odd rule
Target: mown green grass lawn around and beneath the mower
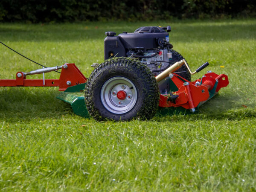
[[(170, 25), (192, 70), (209, 61), (229, 86), (198, 114), (131, 122), (76, 116), (57, 87), (0, 87), (2, 191), (256, 191), (255, 19), (0, 23), (0, 41), (48, 67), (76, 63), (88, 77), (106, 31), (151, 25)], [(38, 68), (0, 45), (0, 79)]]

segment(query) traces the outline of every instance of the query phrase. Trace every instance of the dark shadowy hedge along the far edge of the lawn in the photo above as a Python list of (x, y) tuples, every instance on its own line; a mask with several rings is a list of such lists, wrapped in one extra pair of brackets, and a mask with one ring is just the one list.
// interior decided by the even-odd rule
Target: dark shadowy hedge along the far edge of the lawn
[(0, 21), (32, 23), (256, 17), (254, 0), (1, 0)]

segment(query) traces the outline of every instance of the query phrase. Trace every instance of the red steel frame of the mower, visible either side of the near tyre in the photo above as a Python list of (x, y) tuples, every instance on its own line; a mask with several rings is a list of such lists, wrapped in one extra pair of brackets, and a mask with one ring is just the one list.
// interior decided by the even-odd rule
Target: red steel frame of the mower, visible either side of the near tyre
[[(178, 97), (175, 102), (172, 102), (169, 101), (169, 93), (161, 93), (159, 107), (194, 109), (199, 104), (212, 98), (222, 87), (226, 87), (229, 84), (226, 75), (217, 75), (215, 73), (207, 73), (202, 79), (192, 82), (173, 73), (171, 80), (178, 88), (172, 94)], [(0, 79), (0, 87), (59, 87), (59, 91), (64, 91), (68, 87), (82, 84), (86, 81), (87, 78), (84, 77), (75, 64), (71, 63), (62, 66), (59, 79), (26, 79), (24, 72), (17, 72), (16, 79)]]

